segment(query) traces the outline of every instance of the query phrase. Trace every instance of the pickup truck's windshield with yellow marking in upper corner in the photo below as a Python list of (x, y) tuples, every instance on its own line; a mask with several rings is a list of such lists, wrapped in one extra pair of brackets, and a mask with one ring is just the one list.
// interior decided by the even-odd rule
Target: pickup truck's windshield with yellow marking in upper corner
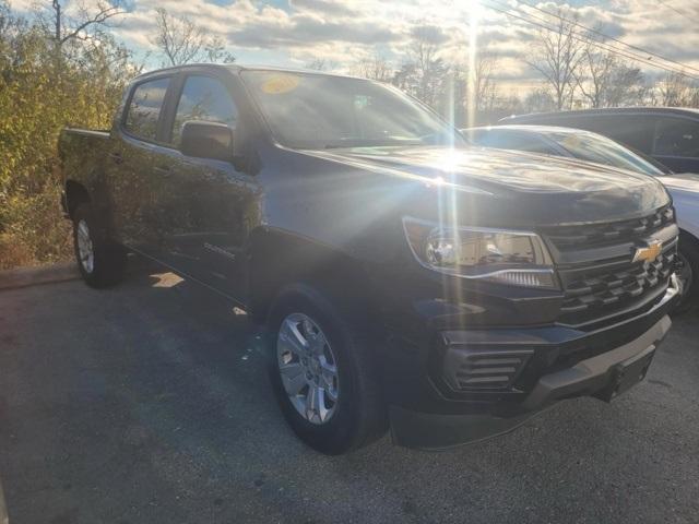
[(274, 71), (244, 71), (242, 78), (287, 147), (464, 145), (436, 115), (375, 82)]

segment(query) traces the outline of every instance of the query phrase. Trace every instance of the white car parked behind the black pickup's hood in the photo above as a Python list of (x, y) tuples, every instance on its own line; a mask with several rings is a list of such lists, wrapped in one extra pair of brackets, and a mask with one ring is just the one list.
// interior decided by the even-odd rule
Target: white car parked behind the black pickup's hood
[(677, 276), (683, 284), (682, 309), (699, 298), (699, 175), (677, 175), (642, 153), (590, 131), (552, 126), (494, 126), (461, 132), (475, 146), (517, 150), (579, 158), (659, 177), (667, 188), (680, 228)]

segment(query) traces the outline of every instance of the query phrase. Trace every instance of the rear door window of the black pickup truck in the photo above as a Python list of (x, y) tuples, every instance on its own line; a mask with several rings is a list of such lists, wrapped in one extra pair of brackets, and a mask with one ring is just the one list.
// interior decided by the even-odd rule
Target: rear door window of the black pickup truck
[(135, 86), (129, 103), (125, 128), (145, 140), (157, 138), (157, 124), (170, 79), (157, 79)]

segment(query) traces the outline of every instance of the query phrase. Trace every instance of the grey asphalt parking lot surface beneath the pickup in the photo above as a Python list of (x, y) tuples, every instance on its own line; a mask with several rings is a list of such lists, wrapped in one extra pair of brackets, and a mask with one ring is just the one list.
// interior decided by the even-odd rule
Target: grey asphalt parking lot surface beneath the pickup
[(341, 457), (287, 429), (259, 333), (163, 273), (0, 291), (10, 523), (699, 522), (699, 317), (615, 403), (488, 442)]

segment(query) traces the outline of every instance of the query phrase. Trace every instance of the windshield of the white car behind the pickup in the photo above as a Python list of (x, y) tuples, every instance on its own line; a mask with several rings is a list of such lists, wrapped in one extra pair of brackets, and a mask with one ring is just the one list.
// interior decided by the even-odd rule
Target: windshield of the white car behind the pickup
[(546, 136), (581, 160), (620, 167), (654, 177), (664, 175), (647, 159), (604, 136), (585, 133), (546, 133)]

